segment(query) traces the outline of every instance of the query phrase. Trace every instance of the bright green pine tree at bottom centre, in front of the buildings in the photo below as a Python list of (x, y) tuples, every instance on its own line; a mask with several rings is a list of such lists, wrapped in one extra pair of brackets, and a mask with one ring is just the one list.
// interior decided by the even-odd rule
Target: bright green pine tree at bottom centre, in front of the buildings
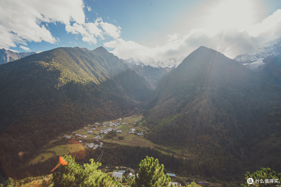
[(140, 169), (135, 184), (138, 187), (160, 187), (168, 186), (170, 177), (163, 172), (164, 165), (159, 165), (158, 159), (146, 156), (146, 159), (140, 162)]

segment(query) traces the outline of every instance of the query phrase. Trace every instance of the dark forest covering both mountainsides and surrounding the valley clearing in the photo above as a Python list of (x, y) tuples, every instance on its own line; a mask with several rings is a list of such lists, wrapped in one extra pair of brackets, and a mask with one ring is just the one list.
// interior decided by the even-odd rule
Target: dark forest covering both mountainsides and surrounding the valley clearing
[(152, 156), (165, 165), (164, 172), (221, 181), (241, 180), (246, 171), (260, 167), (281, 172), (281, 87), (274, 76), (250, 71), (206, 47), (165, 75), (154, 93), (102, 47), (57, 48), (2, 64), (3, 173), (17, 179), (48, 174), (57, 157), (26, 163), (58, 135), (138, 111), (145, 116), (142, 124), (151, 129), (145, 135), (149, 140), (187, 150), (189, 158), (130, 146), (87, 149), (84, 156), (72, 156), (82, 165), (104, 151), (104, 166), (132, 168)]

